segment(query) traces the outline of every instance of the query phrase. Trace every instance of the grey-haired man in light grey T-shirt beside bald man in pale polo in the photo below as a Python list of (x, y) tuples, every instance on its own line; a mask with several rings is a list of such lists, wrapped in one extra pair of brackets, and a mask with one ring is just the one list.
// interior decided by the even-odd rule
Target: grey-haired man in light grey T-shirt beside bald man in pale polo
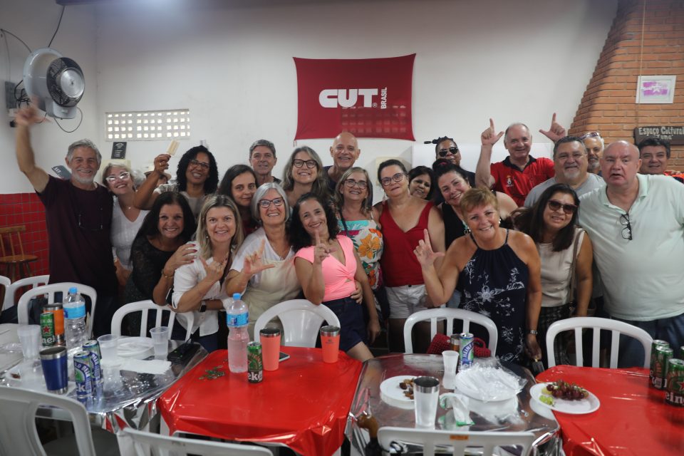
[(603, 179), (587, 172), (587, 154), (580, 138), (565, 136), (554, 145), (554, 171), (556, 175), (529, 191), (525, 207), (532, 207), (544, 190), (555, 184), (567, 184), (577, 196), (589, 193), (603, 185)]

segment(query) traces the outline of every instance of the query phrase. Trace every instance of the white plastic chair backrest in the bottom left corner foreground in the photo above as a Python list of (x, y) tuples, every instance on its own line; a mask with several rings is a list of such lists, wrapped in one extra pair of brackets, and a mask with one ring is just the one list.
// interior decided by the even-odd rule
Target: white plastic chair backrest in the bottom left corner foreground
[(76, 444), (81, 456), (95, 456), (93, 435), (86, 408), (64, 396), (0, 386), (0, 455), (45, 455), (36, 430), (36, 410), (46, 404), (71, 415)]

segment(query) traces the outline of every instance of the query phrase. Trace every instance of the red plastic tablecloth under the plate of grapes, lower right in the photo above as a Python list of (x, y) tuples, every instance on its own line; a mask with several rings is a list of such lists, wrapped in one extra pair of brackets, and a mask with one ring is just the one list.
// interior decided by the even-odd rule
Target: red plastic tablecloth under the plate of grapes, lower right
[(665, 403), (665, 391), (648, 386), (648, 369), (555, 366), (537, 381), (565, 380), (594, 393), (594, 413), (554, 412), (568, 456), (684, 455), (684, 408)]

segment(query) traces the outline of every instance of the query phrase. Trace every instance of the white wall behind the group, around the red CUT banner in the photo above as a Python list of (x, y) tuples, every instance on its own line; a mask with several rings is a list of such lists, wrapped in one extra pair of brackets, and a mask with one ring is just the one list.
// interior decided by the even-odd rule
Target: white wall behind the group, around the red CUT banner
[[(28, 3), (51, 4), (49, 9), (58, 12), (48, 0)], [(252, 2), (259, 6), (241, 2), (232, 8), (224, 6), (227, 3), (138, 0), (96, 6), (96, 33), (88, 24), (83, 42), (56, 40), (55, 47), (82, 66), (91, 64), (85, 68), (90, 83), (86, 96), (95, 96), (96, 110), (92, 98), (84, 99), (89, 103), (81, 107), (97, 124), (88, 123), (68, 138), (57, 136), (63, 139), (59, 143), (46, 140), (43, 145), (54, 144), (56, 150), (41, 154), (61, 160), (64, 144), (90, 135), (108, 156), (105, 112), (190, 108), (192, 139), (181, 143), (183, 150), (207, 140), (222, 174), (230, 165), (247, 162), (253, 140), (266, 138), (276, 144), (280, 175), (296, 131), (293, 56), (416, 53), (413, 130), (418, 142), (450, 135), (459, 143), (477, 144), (489, 117), (501, 129), (521, 120), (534, 133), (549, 128), (551, 113), (556, 112), (568, 126), (594, 71), (617, 0), (261, 0)], [(65, 22), (74, 24), (75, 11), (81, 16), (90, 12), (88, 7), (69, 6)], [(41, 17), (44, 14), (41, 11)], [(10, 28), (4, 16), (0, 26)], [(56, 14), (48, 16), (56, 21)], [(14, 19), (21, 22), (19, 14)], [(46, 17), (43, 22), (50, 21)], [(31, 34), (42, 36), (38, 31)], [(0, 145), (7, 149), (13, 140), (5, 133), (0, 131)], [(538, 133), (534, 140), (548, 142)], [(299, 145), (304, 143), (319, 152), (324, 164), (331, 164), (330, 139)], [(412, 145), (361, 139), (358, 164), (375, 174), (376, 157), (400, 155), (410, 162)], [(142, 166), (166, 147), (165, 141), (129, 142), (127, 157)], [(0, 182), (0, 192), (16, 192), (18, 187), (16, 182)]]

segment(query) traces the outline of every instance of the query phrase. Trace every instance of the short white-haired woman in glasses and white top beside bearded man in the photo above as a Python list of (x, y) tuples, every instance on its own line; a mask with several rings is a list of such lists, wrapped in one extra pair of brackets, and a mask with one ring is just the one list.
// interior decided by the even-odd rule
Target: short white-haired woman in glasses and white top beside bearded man
[(123, 163), (110, 163), (102, 172), (102, 183), (114, 195), (111, 240), (114, 248), (116, 278), (123, 287), (133, 265), (130, 263), (130, 246), (149, 211), (133, 205), (135, 185), (130, 168)]

